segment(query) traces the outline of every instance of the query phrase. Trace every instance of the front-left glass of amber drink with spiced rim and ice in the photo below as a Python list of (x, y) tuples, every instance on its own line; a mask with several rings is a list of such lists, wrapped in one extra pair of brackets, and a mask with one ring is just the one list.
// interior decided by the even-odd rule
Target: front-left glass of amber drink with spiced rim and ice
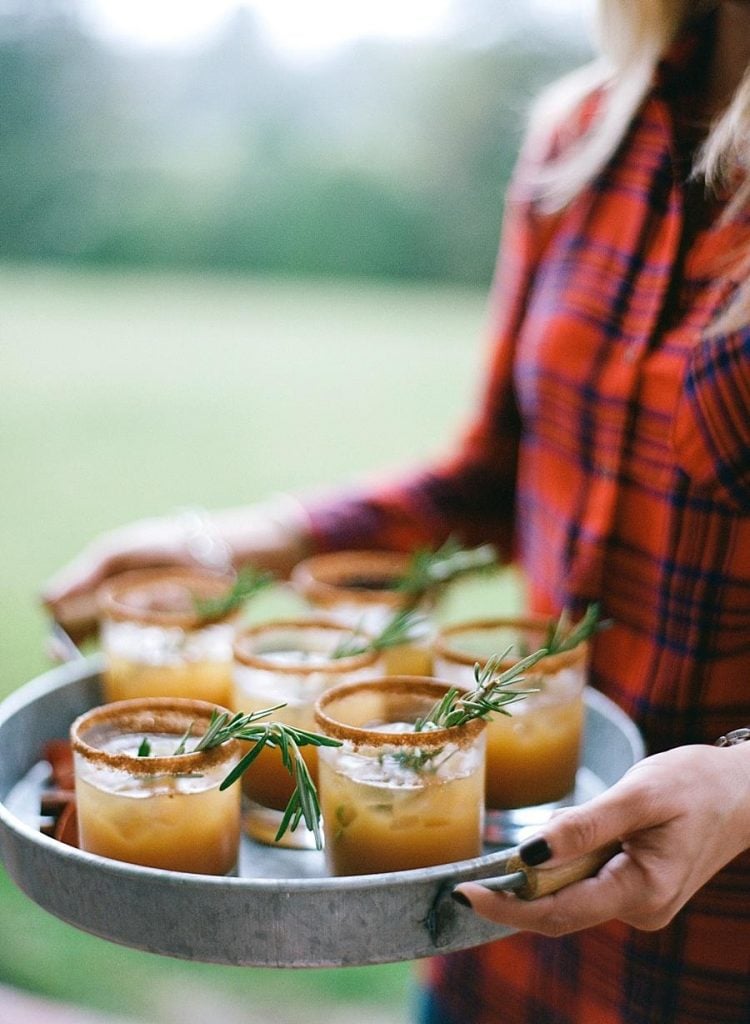
[[(240, 842), (240, 786), (220, 791), (242, 744), (174, 755), (211, 706), (149, 698), (106, 705), (72, 727), (81, 849), (113, 860), (227, 874)], [(149, 756), (139, 756), (143, 741)], [(191, 744), (187, 743), (190, 751)]]

